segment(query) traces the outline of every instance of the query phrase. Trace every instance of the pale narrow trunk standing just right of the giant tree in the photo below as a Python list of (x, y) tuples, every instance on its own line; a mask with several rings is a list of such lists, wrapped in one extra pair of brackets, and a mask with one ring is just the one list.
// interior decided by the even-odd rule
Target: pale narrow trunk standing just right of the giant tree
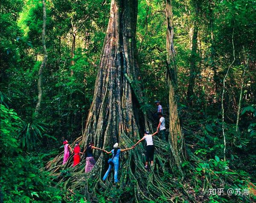
[(166, 0), (166, 51), (167, 51), (167, 82), (169, 87), (169, 142), (175, 164), (181, 171), (181, 162), (185, 160), (184, 135), (180, 126), (177, 108), (177, 67), (173, 43), (172, 0)]

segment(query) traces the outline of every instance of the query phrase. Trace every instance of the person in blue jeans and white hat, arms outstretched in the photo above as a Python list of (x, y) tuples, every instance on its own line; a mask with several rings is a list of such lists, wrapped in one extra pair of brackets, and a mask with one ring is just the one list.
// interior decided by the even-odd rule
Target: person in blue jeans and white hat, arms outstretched
[(113, 160), (113, 164), (112, 163), (109, 164), (108, 170), (105, 173), (104, 177), (102, 178), (103, 182), (105, 182), (105, 180), (108, 177), (109, 172), (111, 171), (112, 167), (114, 166), (114, 179), (115, 179), (115, 183), (118, 183), (117, 174), (118, 174), (120, 152), (125, 152), (127, 150), (134, 149), (134, 147), (127, 148), (127, 149), (119, 149), (118, 143), (114, 144), (113, 148), (114, 149), (112, 149), (110, 152), (106, 151), (105, 149), (103, 150), (103, 152), (106, 152), (107, 154), (112, 153), (112, 160)]

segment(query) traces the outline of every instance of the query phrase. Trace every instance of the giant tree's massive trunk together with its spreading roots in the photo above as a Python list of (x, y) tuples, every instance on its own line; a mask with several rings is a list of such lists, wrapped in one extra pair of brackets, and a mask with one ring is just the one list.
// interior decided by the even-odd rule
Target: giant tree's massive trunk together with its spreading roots
[[(121, 148), (131, 147), (143, 136), (144, 130), (148, 130), (145, 111), (140, 110), (143, 99), (140, 83), (137, 81), (139, 76), (135, 41), (137, 6), (137, 0), (111, 0), (110, 19), (96, 78), (93, 103), (83, 136), (76, 140), (81, 141), (81, 145), (94, 141), (96, 147), (108, 150), (113, 149), (115, 142), (119, 142)], [(175, 184), (174, 180), (161, 179), (164, 172), (169, 172), (170, 166), (173, 165), (170, 147), (168, 143), (157, 137), (154, 138), (154, 145), (155, 165), (152, 168), (154, 171), (150, 174), (144, 170), (143, 144), (122, 153), (118, 178), (124, 200), (122, 197), (119, 200), (113, 197), (105, 197), (106, 199), (110, 198), (109, 201), (115, 202), (157, 201), (161, 194), (166, 197), (167, 202), (172, 201), (174, 192), (169, 188)], [(47, 169), (53, 172), (61, 169), (62, 154), (50, 161)], [(102, 190), (98, 184), (105, 189), (106, 195), (112, 194), (109, 179), (106, 180), (106, 184), (101, 180), (108, 158), (102, 151), (96, 150), (95, 159), (97, 162), (92, 172), (84, 174), (84, 163), (82, 163), (80, 168), (74, 169), (75, 172), (69, 180), (61, 179), (66, 181), (65, 187), (82, 188), (87, 200), (90, 201), (91, 196), (97, 198), (95, 194)], [(71, 164), (68, 162), (64, 168)], [(125, 185), (129, 185), (134, 192), (132, 196), (129, 192), (125, 192)], [(178, 198), (182, 200), (184, 197)]]

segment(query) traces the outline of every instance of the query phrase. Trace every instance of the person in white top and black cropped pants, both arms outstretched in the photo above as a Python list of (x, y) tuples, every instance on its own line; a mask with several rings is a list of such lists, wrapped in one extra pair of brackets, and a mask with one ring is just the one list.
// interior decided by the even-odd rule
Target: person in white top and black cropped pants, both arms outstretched
[(147, 147), (146, 147), (146, 163), (145, 169), (148, 169), (148, 161), (151, 161), (151, 166), (153, 166), (154, 161), (154, 144), (153, 144), (153, 136), (157, 134), (157, 132), (153, 133), (152, 135), (149, 134), (148, 131), (145, 132), (143, 138), (141, 138), (133, 147), (139, 144), (141, 141), (146, 140)]

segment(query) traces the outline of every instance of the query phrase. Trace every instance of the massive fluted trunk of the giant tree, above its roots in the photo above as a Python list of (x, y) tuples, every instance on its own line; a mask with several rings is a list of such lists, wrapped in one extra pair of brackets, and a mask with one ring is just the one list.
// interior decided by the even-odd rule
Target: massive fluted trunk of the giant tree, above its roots
[(131, 85), (138, 78), (136, 23), (137, 0), (112, 0), (83, 143), (89, 138), (107, 147), (119, 142), (123, 133), (139, 138), (137, 90)]

